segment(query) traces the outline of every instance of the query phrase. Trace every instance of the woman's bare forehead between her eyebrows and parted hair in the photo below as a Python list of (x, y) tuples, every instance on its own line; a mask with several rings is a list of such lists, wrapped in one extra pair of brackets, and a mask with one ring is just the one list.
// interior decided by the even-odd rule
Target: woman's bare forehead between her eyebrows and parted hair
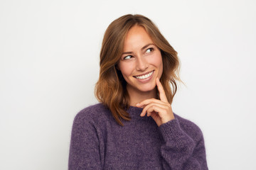
[(133, 26), (124, 39), (124, 51), (141, 49), (149, 43), (153, 43), (153, 41), (146, 30), (142, 26)]

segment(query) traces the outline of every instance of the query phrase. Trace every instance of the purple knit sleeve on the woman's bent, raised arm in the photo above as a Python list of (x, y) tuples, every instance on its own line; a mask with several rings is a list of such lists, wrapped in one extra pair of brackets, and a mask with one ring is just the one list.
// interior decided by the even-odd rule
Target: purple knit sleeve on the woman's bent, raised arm
[(191, 134), (181, 129), (177, 119), (159, 127), (164, 143), (161, 146), (162, 165), (171, 170), (206, 170), (206, 149), (201, 130), (191, 123)]

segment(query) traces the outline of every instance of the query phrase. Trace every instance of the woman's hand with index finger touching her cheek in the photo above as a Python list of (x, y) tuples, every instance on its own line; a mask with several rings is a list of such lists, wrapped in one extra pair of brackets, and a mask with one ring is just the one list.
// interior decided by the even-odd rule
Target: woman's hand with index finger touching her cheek
[(146, 115), (151, 116), (158, 126), (169, 122), (174, 119), (174, 113), (171, 110), (171, 104), (168, 102), (166, 98), (166, 94), (164, 92), (164, 88), (159, 81), (159, 78), (156, 78), (156, 86), (159, 91), (159, 98), (150, 98), (146, 99), (137, 104), (137, 107), (144, 108), (141, 116)]

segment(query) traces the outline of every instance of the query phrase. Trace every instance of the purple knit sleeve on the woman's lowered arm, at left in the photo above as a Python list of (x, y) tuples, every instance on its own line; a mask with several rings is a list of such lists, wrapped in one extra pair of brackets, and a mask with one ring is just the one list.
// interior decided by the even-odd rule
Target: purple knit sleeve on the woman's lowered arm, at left
[(68, 169), (102, 169), (97, 128), (82, 113), (73, 122)]

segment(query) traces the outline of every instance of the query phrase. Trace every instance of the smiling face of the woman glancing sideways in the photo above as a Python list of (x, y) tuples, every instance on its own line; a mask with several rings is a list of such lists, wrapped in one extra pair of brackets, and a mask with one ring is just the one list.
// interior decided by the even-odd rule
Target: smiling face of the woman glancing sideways
[(124, 50), (117, 65), (127, 81), (127, 91), (143, 93), (155, 90), (156, 77), (161, 77), (161, 52), (142, 26), (133, 26), (124, 40)]

